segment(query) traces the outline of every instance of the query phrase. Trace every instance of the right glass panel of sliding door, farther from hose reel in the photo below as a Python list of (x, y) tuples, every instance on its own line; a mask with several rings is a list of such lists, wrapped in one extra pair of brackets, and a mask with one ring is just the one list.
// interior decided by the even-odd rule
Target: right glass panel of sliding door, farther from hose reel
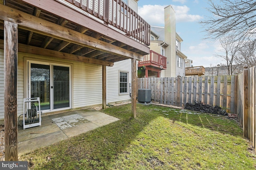
[(53, 66), (54, 109), (70, 107), (69, 67)]

